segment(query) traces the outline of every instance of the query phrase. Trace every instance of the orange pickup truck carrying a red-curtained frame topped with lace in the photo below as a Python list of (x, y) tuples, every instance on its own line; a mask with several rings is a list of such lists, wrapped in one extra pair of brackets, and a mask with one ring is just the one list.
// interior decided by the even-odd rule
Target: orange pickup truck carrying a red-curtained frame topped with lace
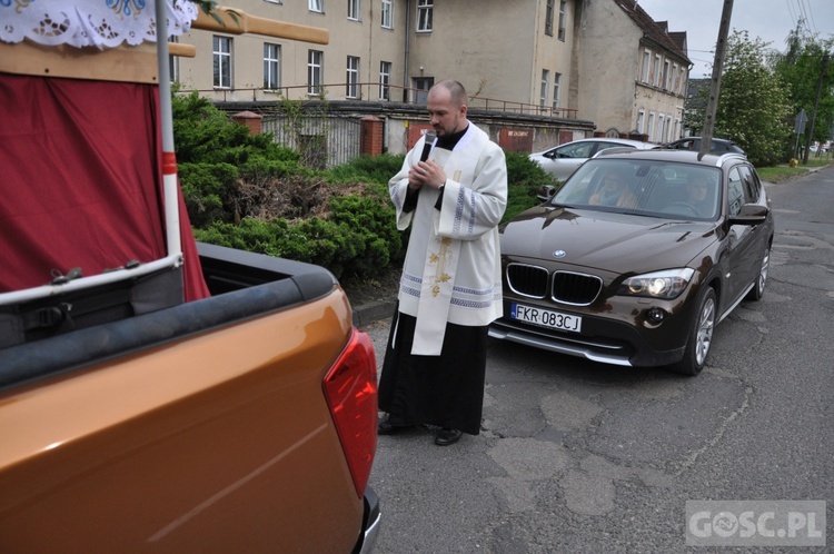
[(0, 4), (0, 552), (369, 552), (368, 336), (326, 269), (193, 241), (165, 44), (61, 41), (119, 2), (77, 3)]

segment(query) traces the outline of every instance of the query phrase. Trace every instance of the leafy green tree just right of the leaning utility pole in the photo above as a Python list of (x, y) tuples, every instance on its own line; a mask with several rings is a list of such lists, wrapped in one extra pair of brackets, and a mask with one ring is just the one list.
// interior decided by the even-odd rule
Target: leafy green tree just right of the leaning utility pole
[[(792, 138), (790, 91), (767, 66), (767, 56), (762, 39), (751, 40), (747, 31), (733, 31), (715, 113), (714, 135), (737, 142), (756, 166), (785, 161), (785, 147)], [(703, 129), (704, 110), (695, 108), (687, 122), (696, 132)]]

